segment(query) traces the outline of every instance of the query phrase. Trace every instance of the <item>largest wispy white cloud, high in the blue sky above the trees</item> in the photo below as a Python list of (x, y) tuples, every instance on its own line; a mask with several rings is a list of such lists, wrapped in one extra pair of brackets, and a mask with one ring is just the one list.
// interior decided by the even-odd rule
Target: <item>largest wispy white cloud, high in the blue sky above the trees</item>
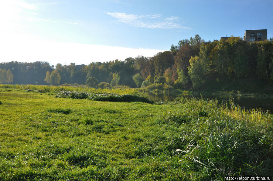
[(107, 15), (111, 15), (116, 18), (117, 22), (125, 23), (135, 27), (142, 28), (158, 28), (158, 29), (191, 29), (190, 27), (181, 26), (180, 18), (177, 16), (171, 16), (162, 18), (161, 14), (155, 15), (134, 15), (121, 12), (106, 12)]

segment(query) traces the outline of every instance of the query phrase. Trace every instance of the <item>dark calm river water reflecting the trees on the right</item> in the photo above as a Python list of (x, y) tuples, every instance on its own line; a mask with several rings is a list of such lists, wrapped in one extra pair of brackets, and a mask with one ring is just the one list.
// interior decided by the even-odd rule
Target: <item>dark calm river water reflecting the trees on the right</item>
[[(178, 96), (187, 96), (187, 97), (196, 97), (201, 98), (201, 95), (190, 96), (186, 94), (163, 94), (163, 93), (152, 93), (145, 92), (145, 94), (152, 99), (153, 101), (166, 101), (173, 100)], [(245, 109), (253, 109), (260, 107), (264, 110), (269, 110), (271, 113), (273, 112), (273, 98), (265, 98), (265, 97), (248, 97), (248, 96), (228, 96), (228, 95), (203, 95), (202, 97), (210, 100), (218, 100), (218, 103), (228, 103), (232, 100), (235, 104), (238, 104)]]

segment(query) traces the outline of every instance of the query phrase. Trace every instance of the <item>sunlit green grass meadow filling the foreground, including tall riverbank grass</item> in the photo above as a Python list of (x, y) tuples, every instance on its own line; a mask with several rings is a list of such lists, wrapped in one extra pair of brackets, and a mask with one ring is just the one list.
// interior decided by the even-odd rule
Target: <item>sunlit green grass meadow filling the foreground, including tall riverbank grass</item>
[(271, 114), (206, 100), (101, 102), (13, 88), (0, 88), (0, 180), (273, 175)]

